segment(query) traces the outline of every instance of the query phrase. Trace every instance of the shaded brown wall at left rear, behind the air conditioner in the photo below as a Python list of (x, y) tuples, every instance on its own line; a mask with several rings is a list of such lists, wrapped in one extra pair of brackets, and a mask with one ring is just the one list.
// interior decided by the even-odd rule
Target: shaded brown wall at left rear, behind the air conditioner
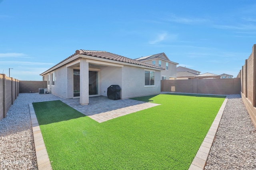
[(20, 81), (19, 93), (38, 93), (38, 89), (46, 89), (47, 81)]

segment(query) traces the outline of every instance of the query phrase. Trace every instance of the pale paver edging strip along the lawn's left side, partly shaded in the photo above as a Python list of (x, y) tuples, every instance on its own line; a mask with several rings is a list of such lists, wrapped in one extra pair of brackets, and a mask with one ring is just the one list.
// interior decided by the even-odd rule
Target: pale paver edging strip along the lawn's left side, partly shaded
[(48, 157), (44, 139), (36, 119), (36, 113), (32, 103), (29, 103), (30, 119), (33, 131), (34, 145), (36, 150), (36, 162), (38, 170), (52, 170), (50, 159)]

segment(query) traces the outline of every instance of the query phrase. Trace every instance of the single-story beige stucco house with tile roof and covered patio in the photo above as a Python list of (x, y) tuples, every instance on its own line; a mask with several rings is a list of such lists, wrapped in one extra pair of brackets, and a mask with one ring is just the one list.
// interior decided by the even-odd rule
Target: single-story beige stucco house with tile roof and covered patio
[(87, 105), (90, 96), (107, 96), (110, 85), (121, 87), (121, 99), (159, 94), (164, 68), (106, 51), (76, 50), (76, 53), (44, 73), (47, 90)]

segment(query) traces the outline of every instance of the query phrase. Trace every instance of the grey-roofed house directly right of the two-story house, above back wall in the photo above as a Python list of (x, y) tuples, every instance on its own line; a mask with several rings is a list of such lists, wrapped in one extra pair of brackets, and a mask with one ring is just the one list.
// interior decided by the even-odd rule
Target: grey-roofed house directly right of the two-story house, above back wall
[(179, 66), (177, 67), (177, 80), (195, 79), (200, 73), (200, 71)]

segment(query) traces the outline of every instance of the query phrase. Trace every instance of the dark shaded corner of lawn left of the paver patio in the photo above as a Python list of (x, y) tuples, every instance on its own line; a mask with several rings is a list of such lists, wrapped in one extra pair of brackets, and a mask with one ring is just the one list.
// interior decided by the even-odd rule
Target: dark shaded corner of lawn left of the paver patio
[(60, 100), (32, 103), (39, 125), (86, 117)]

